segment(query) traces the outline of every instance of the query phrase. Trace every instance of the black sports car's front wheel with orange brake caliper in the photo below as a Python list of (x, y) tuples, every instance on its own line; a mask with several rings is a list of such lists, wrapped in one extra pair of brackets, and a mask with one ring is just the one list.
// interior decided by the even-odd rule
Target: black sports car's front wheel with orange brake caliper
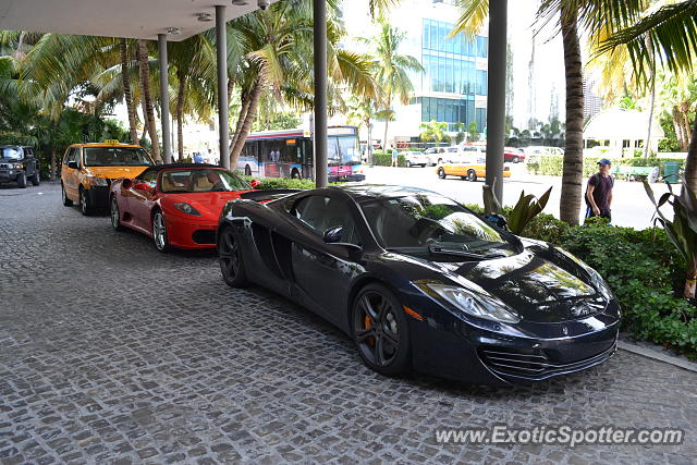
[(358, 353), (369, 368), (388, 376), (408, 371), (406, 317), (386, 286), (368, 284), (360, 290), (353, 304), (351, 329)]

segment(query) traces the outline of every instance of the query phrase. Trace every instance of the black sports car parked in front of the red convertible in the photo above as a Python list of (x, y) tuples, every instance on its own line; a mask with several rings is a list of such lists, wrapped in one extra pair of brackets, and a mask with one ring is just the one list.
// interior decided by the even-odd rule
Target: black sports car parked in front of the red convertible
[(620, 307), (595, 270), (430, 191), (351, 185), (230, 201), (218, 253), (228, 285), (254, 282), (309, 308), (383, 375), (539, 381), (616, 347)]

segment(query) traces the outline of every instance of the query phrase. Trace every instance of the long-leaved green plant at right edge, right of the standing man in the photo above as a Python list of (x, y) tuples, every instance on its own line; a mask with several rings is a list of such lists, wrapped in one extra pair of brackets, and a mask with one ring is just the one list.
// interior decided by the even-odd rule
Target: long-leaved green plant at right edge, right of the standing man
[[(658, 201), (656, 201), (653, 189), (651, 189), (646, 180), (644, 181), (644, 188), (656, 207), (656, 212), (653, 213), (655, 223), (660, 223), (663, 227), (668, 238), (687, 264), (683, 296), (685, 298), (695, 298), (697, 283), (697, 197), (695, 192), (687, 187), (683, 175), (681, 175), (681, 182), (683, 185), (680, 195), (673, 193), (673, 187), (667, 183), (669, 192), (661, 195)], [(665, 204), (673, 207), (672, 221), (661, 211), (661, 207)]]

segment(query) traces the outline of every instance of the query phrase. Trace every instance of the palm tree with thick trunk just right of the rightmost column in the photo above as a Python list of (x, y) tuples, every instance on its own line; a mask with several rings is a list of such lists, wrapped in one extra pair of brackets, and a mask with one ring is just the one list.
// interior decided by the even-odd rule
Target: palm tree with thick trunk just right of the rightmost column
[[(561, 33), (566, 75), (565, 150), (560, 218), (578, 224), (582, 204), (584, 91), (579, 29), (607, 30), (637, 20), (645, 0), (542, 0), (537, 11), (541, 25)], [(489, 14), (489, 0), (461, 0), (461, 17), (451, 35), (479, 32)]]

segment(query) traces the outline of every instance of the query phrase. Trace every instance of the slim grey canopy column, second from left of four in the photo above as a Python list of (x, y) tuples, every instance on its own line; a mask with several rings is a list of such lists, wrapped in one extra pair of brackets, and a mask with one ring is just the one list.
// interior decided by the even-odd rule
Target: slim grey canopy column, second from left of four
[[(220, 164), (230, 169), (230, 123), (228, 117), (228, 30), (225, 7), (216, 5), (216, 52), (218, 62), (218, 136)], [(236, 167), (232, 167), (235, 169)]]

